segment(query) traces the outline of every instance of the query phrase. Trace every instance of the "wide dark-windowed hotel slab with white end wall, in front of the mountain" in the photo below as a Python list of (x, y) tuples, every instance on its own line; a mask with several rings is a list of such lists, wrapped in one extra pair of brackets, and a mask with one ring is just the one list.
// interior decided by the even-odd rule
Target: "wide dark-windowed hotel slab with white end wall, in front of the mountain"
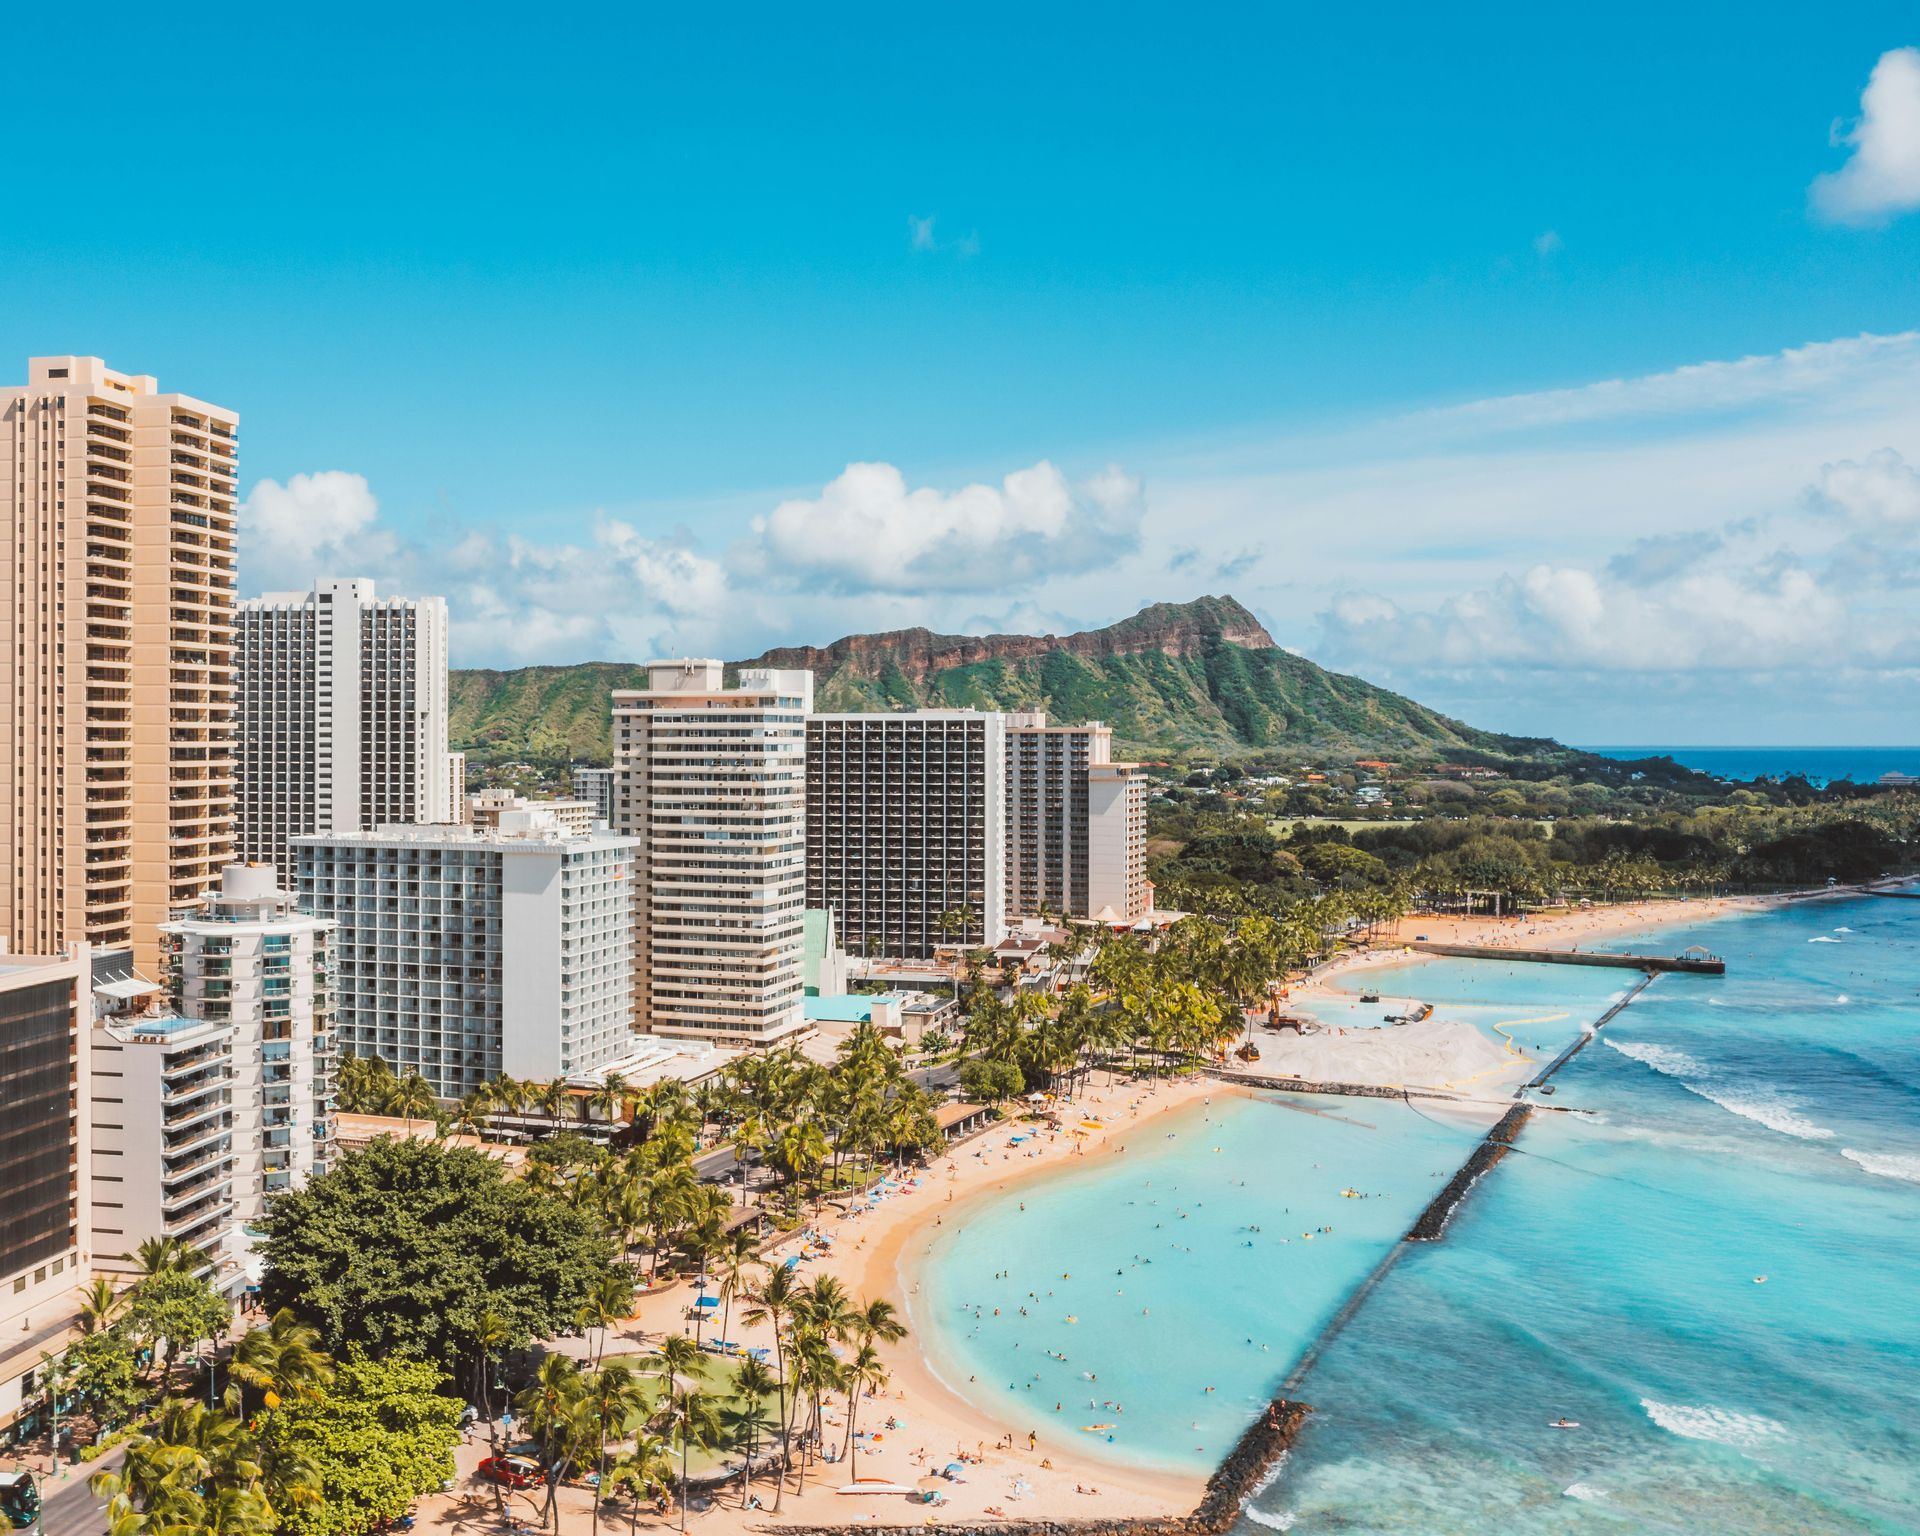
[(1006, 933), (1006, 716), (806, 722), (806, 904), (849, 954), (927, 958)]

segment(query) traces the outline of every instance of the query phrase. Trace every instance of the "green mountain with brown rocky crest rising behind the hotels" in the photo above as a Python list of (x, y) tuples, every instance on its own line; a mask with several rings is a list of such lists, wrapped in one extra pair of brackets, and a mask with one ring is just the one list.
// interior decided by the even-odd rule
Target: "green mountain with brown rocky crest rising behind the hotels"
[[(1482, 732), (1329, 672), (1275, 645), (1233, 597), (1154, 603), (1073, 636), (895, 630), (778, 647), (732, 666), (804, 666), (822, 710), (1043, 708), (1060, 724), (1104, 720), (1117, 751), (1148, 758), (1279, 751), (1432, 760), (1567, 751), (1542, 737)], [(641, 662), (457, 670), (449, 733), (476, 760), (607, 762), (607, 695), (643, 685)]]

